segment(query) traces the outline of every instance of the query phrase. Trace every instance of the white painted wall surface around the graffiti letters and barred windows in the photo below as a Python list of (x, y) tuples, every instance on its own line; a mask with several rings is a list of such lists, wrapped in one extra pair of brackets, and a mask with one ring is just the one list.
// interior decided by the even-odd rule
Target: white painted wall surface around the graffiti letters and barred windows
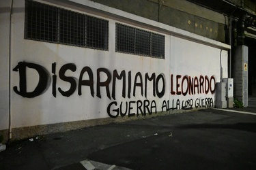
[[(162, 105), (166, 101), (170, 103), (171, 107), (172, 100), (180, 100), (180, 107), (177, 109), (182, 109), (182, 101), (188, 99), (193, 100), (193, 105), (191, 107), (195, 108), (195, 103), (197, 99), (211, 98), (214, 101), (214, 94), (209, 92), (208, 94), (199, 93), (193, 95), (171, 95), (171, 74), (173, 74), (173, 89), (177, 89), (176, 75), (188, 75), (191, 77), (200, 75), (207, 75), (209, 78), (214, 76), (214, 80), (219, 82), (221, 73), (221, 50), (219, 48), (214, 48), (212, 46), (206, 46), (199, 44), (198, 42), (191, 41), (188, 39), (183, 39), (181, 37), (173, 36), (173, 33), (163, 33), (162, 31), (157, 32), (156, 28), (145, 26), (143, 24), (143, 29), (160, 33), (165, 35), (165, 60), (158, 58), (150, 58), (145, 56), (134, 56), (130, 54), (122, 54), (115, 52), (115, 22), (111, 17), (106, 18), (109, 20), (109, 51), (93, 50), (89, 48), (79, 48), (74, 46), (65, 46), (59, 44), (51, 44), (41, 41), (31, 41), (24, 39), (24, 1), (14, 1), (14, 9), (21, 9), (14, 11), (13, 15), (13, 28), (12, 28), (12, 63), (11, 68), (14, 69), (19, 62), (34, 63), (44, 67), (50, 76), (52, 73), (52, 63), (56, 63), (56, 97), (53, 96), (53, 80), (48, 86), (48, 89), (39, 95), (38, 97), (26, 98), (18, 95), (14, 90), (11, 92), (11, 112), (12, 112), (12, 127), (18, 128), (23, 126), (34, 126), (40, 124), (53, 124), (58, 122), (72, 122), (76, 120), (90, 120), (95, 118), (108, 118), (107, 108), (109, 106), (111, 109), (111, 114), (115, 116), (116, 112), (113, 109), (118, 109), (119, 105), (122, 103), (123, 112), (125, 111), (126, 102), (128, 102), (128, 107), (130, 107), (130, 114), (137, 114), (137, 103), (150, 102), (153, 111), (161, 112)], [(69, 9), (72, 10), (72, 9)], [(87, 13), (85, 13), (87, 14)], [(89, 14), (92, 15), (92, 14)], [(102, 16), (97, 16), (102, 17)], [(132, 16), (137, 18), (137, 16)], [(138, 17), (138, 20), (143, 20)], [(124, 18), (119, 19), (118, 22), (126, 22)], [(145, 20), (147, 22), (147, 20)], [(127, 21), (124, 24), (132, 24), (132, 22)], [(137, 23), (136, 26), (139, 27)], [(167, 26), (165, 26), (167, 27)], [(173, 27), (168, 27), (173, 29)], [(2, 31), (2, 29), (1, 29)], [(190, 33), (186, 33), (186, 36), (190, 36)], [(197, 35), (191, 35), (197, 37), (198, 39), (203, 39)], [(206, 39), (212, 43), (218, 44), (218, 42)], [(5, 62), (6, 63), (6, 62)], [(68, 63), (73, 63), (76, 66), (76, 71), (72, 72), (70, 70), (66, 71), (66, 75), (72, 76), (76, 79), (76, 90), (70, 97), (64, 97), (59, 92), (58, 88), (62, 90), (68, 90), (70, 84), (59, 79), (59, 69)], [(223, 65), (223, 78), (227, 77), (227, 50), (222, 51), (222, 65)], [(91, 92), (88, 86), (82, 86), (82, 95), (78, 94), (77, 84), (79, 82), (79, 75), (83, 67), (90, 67), (94, 75), (94, 97), (91, 96)], [(122, 97), (122, 81), (117, 80), (115, 86), (116, 89), (116, 99), (109, 99), (106, 95), (106, 88), (100, 87), (101, 98), (97, 97), (97, 69), (105, 68), (111, 73), (113, 78), (113, 71), (116, 69), (118, 73), (121, 71), (126, 72), (126, 97)], [(2, 70), (2, 69), (1, 69)], [(128, 73), (131, 73), (131, 95), (128, 97)], [(143, 95), (141, 95), (140, 87), (136, 87), (135, 97), (133, 93), (133, 84), (136, 73), (141, 73), (143, 80)], [(165, 94), (163, 97), (153, 96), (153, 86), (152, 82), (148, 82), (147, 86), (147, 98), (145, 97), (145, 74), (156, 73), (156, 77), (163, 75), (165, 78)], [(1, 75), (6, 78), (7, 75)], [(174, 78), (175, 77), (175, 78)], [(159, 77), (160, 78), (160, 77)], [(83, 75), (83, 80), (88, 80), (88, 75), (85, 73)], [(106, 74), (100, 73), (100, 81), (104, 82), (106, 80)], [(35, 69), (27, 68), (27, 92), (31, 92), (35, 89), (39, 81), (39, 76)], [(179, 80), (180, 82), (182, 79)], [(178, 82), (179, 82), (178, 81)], [(11, 72), (11, 88), (14, 86), (19, 89), (19, 72)], [(139, 80), (137, 82), (140, 82)], [(112, 94), (112, 84), (109, 84), (110, 95)], [(178, 83), (179, 84), (179, 83)], [(162, 77), (158, 82), (158, 90), (162, 90)], [(2, 85), (1, 85), (2, 86)], [(6, 83), (5, 83), (6, 86)], [(184, 85), (184, 88), (186, 84)], [(214, 85), (213, 85), (214, 86)], [(180, 89), (180, 88), (178, 88)], [(7, 93), (8, 95), (8, 93)], [(2, 99), (2, 98), (1, 98)], [(7, 100), (5, 100), (6, 102)], [(112, 102), (113, 103), (111, 105)], [(156, 109), (154, 104), (156, 103)], [(130, 106), (129, 106), (130, 104)], [(150, 107), (149, 106), (149, 107)], [(205, 107), (205, 105), (203, 105)], [(143, 107), (141, 107), (143, 108)], [(7, 109), (7, 108), (5, 108)], [(165, 107), (166, 109), (166, 107)], [(166, 111), (166, 110), (163, 111)], [(183, 108), (184, 109), (184, 108)], [(185, 109), (189, 109), (186, 107)], [(140, 114), (140, 112), (139, 112)], [(128, 113), (126, 114), (128, 115)], [(8, 114), (5, 114), (5, 117)], [(1, 129), (6, 129), (6, 122), (8, 120), (0, 120)]]

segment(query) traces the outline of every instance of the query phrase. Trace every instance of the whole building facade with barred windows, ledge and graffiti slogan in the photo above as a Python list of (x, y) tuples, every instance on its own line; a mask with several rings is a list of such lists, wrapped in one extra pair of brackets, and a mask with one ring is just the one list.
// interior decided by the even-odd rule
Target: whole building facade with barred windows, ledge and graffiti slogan
[(190, 1), (5, 0), (0, 131), (19, 139), (214, 107), (228, 17)]

